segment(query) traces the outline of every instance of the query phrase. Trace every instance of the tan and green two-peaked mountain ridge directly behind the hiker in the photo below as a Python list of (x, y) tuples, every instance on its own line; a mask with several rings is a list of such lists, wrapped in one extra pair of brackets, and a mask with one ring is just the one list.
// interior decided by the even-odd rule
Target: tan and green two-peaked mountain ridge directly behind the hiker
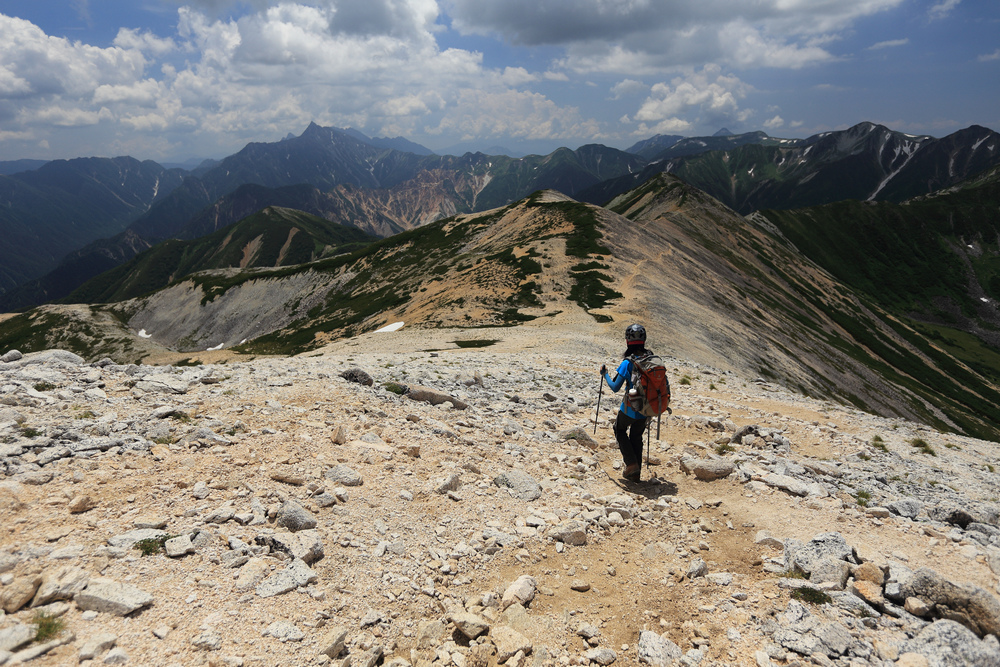
[[(174, 276), (152, 294), (90, 307), (168, 348), (221, 345), (282, 355), (396, 321), (481, 328), (580, 318), (618, 327), (639, 320), (671, 332), (676, 353), (699, 363), (1000, 439), (994, 382), (774, 229), (662, 174), (608, 208), (538, 192), (350, 254)], [(45, 306), (9, 320), (0, 327), (7, 331), (0, 347), (41, 340), (52, 346), (79, 336), (71, 322), (44, 319), (59, 312)], [(43, 321), (32, 329), (31, 322)], [(110, 354), (100, 338), (88, 355)]]

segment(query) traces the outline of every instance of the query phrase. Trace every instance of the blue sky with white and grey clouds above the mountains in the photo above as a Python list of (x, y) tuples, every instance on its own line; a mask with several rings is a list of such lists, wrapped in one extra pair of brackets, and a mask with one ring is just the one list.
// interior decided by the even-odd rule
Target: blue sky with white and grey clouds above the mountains
[(0, 160), (1000, 130), (996, 0), (3, 0)]

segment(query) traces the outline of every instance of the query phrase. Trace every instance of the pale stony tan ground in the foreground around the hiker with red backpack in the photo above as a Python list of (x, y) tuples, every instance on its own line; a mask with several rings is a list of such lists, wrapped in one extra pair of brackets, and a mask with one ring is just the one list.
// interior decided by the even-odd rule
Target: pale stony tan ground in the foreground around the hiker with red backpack
[(1000, 665), (995, 443), (664, 357), (629, 483), (617, 348), (377, 336), (5, 351), (0, 664)]

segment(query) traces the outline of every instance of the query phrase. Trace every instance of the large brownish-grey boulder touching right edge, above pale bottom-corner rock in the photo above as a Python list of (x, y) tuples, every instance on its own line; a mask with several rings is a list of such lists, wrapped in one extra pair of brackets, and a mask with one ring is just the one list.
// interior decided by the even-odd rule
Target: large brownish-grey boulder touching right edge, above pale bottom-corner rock
[(934, 618), (957, 621), (980, 637), (1000, 635), (1000, 600), (978, 586), (953, 583), (922, 567), (901, 583), (900, 593), (932, 607)]

